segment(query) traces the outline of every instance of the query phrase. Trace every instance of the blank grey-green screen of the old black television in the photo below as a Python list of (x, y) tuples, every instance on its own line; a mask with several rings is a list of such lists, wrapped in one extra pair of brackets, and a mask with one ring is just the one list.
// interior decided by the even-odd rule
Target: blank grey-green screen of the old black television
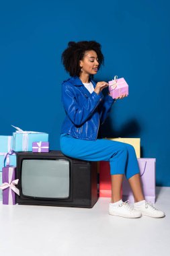
[(22, 193), (30, 197), (68, 198), (70, 191), (69, 160), (22, 161)]

